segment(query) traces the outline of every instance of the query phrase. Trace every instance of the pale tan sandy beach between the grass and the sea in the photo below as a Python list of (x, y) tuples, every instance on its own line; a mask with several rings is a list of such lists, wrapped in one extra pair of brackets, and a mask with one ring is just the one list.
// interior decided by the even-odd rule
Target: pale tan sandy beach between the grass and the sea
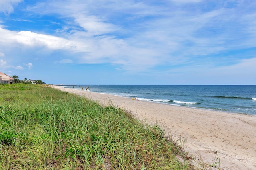
[(256, 170), (256, 116), (134, 101), (109, 94), (53, 87), (131, 111), (143, 122), (152, 125), (158, 123), (175, 140), (184, 143), (184, 150), (193, 156), (195, 164), (202, 160), (206, 164), (214, 164), (219, 158), (220, 166), (212, 169)]

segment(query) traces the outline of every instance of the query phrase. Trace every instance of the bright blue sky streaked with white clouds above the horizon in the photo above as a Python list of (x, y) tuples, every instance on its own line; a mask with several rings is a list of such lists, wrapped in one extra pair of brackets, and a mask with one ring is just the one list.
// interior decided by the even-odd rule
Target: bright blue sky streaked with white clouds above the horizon
[(0, 37), (21, 80), (256, 85), (255, 0), (0, 0)]

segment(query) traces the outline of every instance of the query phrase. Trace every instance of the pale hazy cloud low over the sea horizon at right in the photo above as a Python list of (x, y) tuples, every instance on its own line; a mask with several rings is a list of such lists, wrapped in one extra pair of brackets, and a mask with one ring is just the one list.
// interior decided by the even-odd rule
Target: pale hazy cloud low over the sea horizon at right
[(158, 75), (180, 81), (180, 84), (255, 84), (255, 63), (256, 57), (241, 59), (229, 66), (212, 66), (211, 63), (182, 66), (158, 72)]

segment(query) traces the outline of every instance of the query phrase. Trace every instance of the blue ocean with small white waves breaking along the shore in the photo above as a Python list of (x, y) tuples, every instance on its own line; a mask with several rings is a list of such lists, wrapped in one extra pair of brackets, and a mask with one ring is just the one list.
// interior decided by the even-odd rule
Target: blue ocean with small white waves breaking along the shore
[(162, 104), (256, 115), (254, 85), (76, 85), (66, 86)]

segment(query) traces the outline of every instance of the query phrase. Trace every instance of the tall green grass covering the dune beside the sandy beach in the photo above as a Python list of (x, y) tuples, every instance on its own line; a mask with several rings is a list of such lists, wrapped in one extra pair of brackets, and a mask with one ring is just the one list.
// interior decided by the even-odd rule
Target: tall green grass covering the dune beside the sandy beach
[(1, 170), (184, 170), (158, 126), (46, 85), (0, 85)]

